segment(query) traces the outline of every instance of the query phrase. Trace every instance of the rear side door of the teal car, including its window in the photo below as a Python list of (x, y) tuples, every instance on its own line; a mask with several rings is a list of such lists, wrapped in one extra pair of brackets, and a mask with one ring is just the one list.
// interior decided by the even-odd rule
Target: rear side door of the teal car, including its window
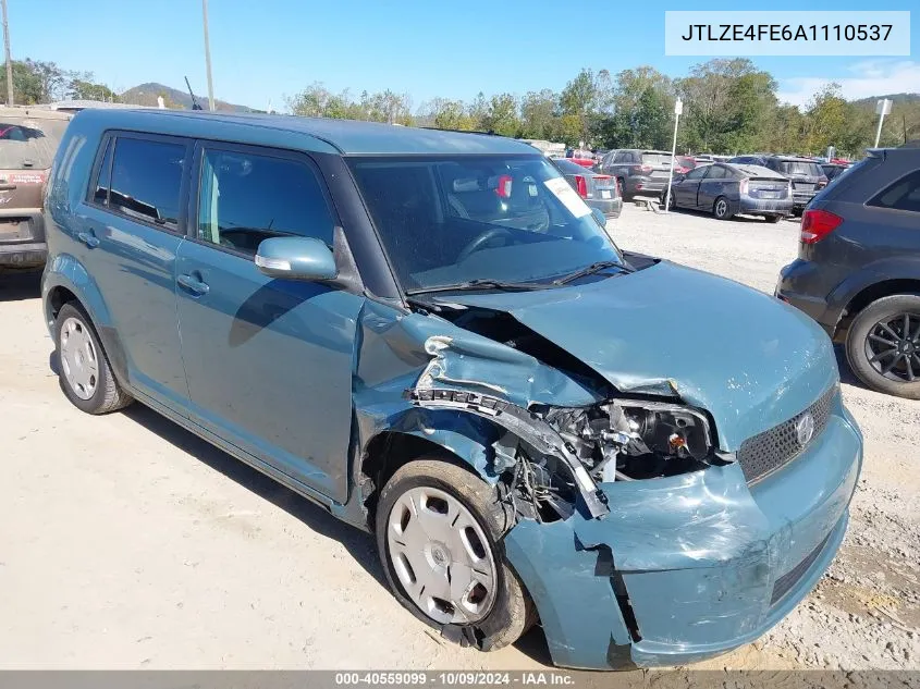
[(130, 383), (182, 413), (188, 398), (175, 317), (187, 139), (119, 132), (99, 149), (73, 253), (93, 276), (124, 352)]

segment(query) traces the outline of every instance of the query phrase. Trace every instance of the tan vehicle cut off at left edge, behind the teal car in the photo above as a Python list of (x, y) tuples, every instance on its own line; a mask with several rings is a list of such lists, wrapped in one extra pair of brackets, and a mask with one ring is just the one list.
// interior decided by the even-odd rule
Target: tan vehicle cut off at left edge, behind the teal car
[(71, 115), (0, 107), (0, 271), (45, 263), (41, 196)]

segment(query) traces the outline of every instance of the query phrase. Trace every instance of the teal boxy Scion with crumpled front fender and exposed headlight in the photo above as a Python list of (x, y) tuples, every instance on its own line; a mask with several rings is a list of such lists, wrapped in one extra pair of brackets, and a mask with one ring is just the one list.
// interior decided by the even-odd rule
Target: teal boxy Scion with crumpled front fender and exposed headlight
[(539, 624), (562, 666), (694, 662), (844, 538), (862, 439), (827, 335), (621, 250), (526, 144), (84, 111), (45, 200), (68, 398), (148, 405), (376, 533), (461, 644)]

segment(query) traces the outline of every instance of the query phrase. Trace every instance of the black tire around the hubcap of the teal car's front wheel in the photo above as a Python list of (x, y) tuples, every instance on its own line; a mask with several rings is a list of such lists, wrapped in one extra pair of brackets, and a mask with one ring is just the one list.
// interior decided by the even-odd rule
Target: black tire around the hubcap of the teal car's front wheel
[[(387, 545), (390, 513), (403, 493), (419, 487), (434, 488), (454, 496), (473, 514), (489, 541), (498, 575), (495, 596), (486, 616), (471, 625), (441, 625), (428, 617), (406, 595), (394, 571)], [(507, 529), (505, 512), (494, 489), (463, 467), (442, 459), (421, 458), (401, 467), (381, 491), (377, 506), (377, 547), (393, 595), (406, 610), (447, 638), (476, 645), (481, 651), (494, 651), (514, 643), (536, 622), (533, 603), (504, 554), (501, 538)]]

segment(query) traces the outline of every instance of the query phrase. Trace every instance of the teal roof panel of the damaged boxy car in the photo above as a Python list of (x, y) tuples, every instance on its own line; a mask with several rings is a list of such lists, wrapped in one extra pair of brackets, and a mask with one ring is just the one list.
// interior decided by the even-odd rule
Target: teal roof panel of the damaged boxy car
[[(422, 130), (379, 122), (299, 118), (279, 114), (208, 112), (201, 110), (84, 110), (77, 118), (105, 120), (106, 126), (177, 136), (213, 136), (225, 125), (242, 140), (283, 139), (289, 147), (334, 150), (344, 155), (539, 155), (532, 146), (503, 136)], [(256, 135), (256, 130), (261, 136)], [(204, 132), (204, 133), (203, 133)], [(226, 132), (224, 133), (226, 134)], [(287, 136), (283, 136), (283, 135)], [(291, 135), (295, 135), (292, 137)], [(314, 144), (311, 145), (311, 140)], [(323, 145), (324, 144), (324, 145)]]

